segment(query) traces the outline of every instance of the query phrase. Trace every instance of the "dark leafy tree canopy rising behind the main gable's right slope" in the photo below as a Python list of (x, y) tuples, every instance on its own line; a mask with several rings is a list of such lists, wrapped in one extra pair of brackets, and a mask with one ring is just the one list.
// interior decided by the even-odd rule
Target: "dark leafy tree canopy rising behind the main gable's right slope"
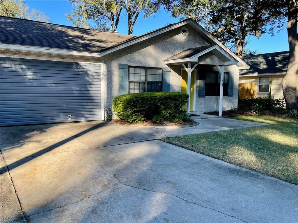
[(244, 50), (247, 37), (273, 35), (282, 28), (259, 0), (165, 0), (159, 4), (175, 17), (193, 18), (238, 56), (251, 53)]

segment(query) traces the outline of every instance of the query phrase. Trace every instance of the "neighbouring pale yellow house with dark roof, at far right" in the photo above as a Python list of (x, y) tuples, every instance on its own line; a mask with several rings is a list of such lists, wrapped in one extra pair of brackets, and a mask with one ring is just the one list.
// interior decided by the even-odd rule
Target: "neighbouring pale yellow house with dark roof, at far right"
[[(239, 72), (239, 98), (283, 98), (283, 78), (288, 67), (289, 51), (242, 56), (250, 70)], [(251, 92), (247, 95), (247, 91)]]

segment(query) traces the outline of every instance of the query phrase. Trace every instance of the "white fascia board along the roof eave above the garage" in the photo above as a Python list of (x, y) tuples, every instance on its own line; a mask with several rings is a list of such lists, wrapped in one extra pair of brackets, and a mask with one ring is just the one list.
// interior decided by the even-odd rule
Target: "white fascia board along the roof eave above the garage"
[(89, 57), (99, 57), (98, 53), (88, 53), (88, 52), (78, 52), (78, 51), (67, 51), (56, 48), (44, 48), (36, 46), (24, 46), (24, 45), (15, 45), (1, 43), (0, 48), (4, 50), (18, 50), (18, 51), (28, 51), (36, 53), (47, 53), (47, 54), (60, 54), (60, 55), (69, 55), (69, 56), (89, 56)]

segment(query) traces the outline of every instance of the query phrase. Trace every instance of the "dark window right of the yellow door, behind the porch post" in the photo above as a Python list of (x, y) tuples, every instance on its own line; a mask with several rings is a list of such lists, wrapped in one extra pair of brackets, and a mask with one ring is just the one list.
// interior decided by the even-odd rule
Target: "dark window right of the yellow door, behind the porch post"
[[(223, 96), (228, 95), (228, 72), (224, 72)], [(205, 95), (219, 96), (221, 89), (221, 75), (218, 72), (206, 72)]]

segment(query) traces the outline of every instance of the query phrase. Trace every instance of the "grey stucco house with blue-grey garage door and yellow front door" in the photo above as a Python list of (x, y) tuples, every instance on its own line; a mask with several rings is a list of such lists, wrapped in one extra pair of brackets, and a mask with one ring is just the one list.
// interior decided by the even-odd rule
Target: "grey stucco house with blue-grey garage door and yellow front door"
[(193, 19), (133, 37), (2, 16), (0, 41), (2, 126), (111, 120), (116, 95), (145, 91), (221, 115), (249, 69)]

